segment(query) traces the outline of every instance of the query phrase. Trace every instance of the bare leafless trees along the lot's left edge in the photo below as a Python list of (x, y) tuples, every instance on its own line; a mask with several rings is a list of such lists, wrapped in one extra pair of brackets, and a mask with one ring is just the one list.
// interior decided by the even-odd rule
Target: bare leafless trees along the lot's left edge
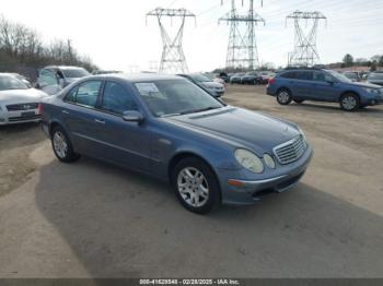
[(48, 64), (78, 65), (89, 71), (97, 68), (89, 57), (79, 55), (70, 40), (45, 44), (33, 28), (0, 15), (0, 65), (39, 69)]

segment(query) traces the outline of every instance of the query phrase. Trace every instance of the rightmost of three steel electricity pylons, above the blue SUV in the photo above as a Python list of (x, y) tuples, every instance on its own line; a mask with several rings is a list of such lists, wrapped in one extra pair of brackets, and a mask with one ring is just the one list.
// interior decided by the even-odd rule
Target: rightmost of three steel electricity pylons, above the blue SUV
[[(317, 27), (321, 20), (327, 21), (327, 17), (321, 12), (301, 12), (295, 11), (287, 16), (294, 20), (294, 49), (289, 53), (288, 64), (289, 65), (303, 65), (309, 67), (320, 61), (320, 55), (316, 48), (316, 35)], [(310, 29), (304, 33), (302, 22)]]

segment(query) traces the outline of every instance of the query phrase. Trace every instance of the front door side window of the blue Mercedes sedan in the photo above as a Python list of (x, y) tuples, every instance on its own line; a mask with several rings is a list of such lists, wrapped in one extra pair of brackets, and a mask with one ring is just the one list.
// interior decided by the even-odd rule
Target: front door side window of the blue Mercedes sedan
[(116, 115), (124, 111), (138, 110), (137, 104), (131, 95), (118, 83), (106, 82), (102, 108)]

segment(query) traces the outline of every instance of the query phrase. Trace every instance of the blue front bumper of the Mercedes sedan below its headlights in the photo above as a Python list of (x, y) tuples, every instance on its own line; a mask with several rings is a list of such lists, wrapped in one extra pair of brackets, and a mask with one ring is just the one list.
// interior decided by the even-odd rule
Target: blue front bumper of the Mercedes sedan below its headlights
[[(268, 193), (280, 193), (294, 187), (303, 177), (310, 160), (313, 156), (313, 150), (309, 146), (302, 157), (292, 164), (286, 165), (283, 174), (271, 178), (259, 180), (241, 180), (227, 177), (221, 180), (222, 203), (234, 205), (252, 205), (260, 201), (260, 198)], [(234, 179), (239, 186), (228, 183), (228, 180)]]

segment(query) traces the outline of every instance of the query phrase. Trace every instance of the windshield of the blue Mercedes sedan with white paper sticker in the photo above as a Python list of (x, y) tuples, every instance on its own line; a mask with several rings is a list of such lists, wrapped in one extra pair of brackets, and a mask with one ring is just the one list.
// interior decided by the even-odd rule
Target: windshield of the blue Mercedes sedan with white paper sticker
[(165, 80), (135, 85), (156, 117), (194, 114), (224, 106), (188, 81)]

